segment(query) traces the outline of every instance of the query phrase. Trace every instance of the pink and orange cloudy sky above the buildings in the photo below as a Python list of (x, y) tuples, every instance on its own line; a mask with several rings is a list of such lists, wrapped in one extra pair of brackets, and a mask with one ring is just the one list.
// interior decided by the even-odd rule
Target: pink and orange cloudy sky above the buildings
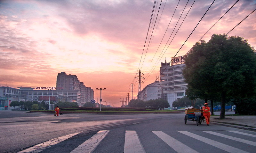
[[(0, 85), (56, 86), (66, 72), (91, 87), (94, 99), (96, 88), (106, 88), (103, 101), (120, 107), (120, 98), (131, 99), (130, 84), (137, 96), (139, 69), (142, 90), (159, 80), (161, 62), (185, 55), (236, 0), (178, 2), (157, 0), (152, 14), (154, 0), (0, 0)], [(255, 0), (239, 0), (202, 40), (228, 33), (255, 8)], [(256, 11), (228, 36), (255, 46), (255, 21)]]

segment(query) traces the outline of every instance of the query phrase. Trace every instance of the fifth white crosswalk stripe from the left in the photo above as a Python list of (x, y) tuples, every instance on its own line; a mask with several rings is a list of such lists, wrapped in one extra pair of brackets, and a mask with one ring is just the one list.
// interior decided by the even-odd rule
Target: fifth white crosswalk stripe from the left
[(182, 133), (184, 135), (188, 135), (188, 136), (190, 136), (190, 137), (192, 137), (194, 139), (197, 139), (197, 140), (202, 141), (204, 143), (210, 144), (210, 145), (212, 145), (214, 147), (217, 147), (219, 149), (225, 150), (225, 151), (230, 152), (230, 153), (248, 153), (248, 152), (246, 152), (244, 150), (228, 146), (226, 144), (223, 144), (223, 143), (220, 143), (220, 142), (217, 142), (217, 141), (205, 138), (205, 137), (200, 136), (200, 135), (196, 135), (196, 134), (190, 133), (188, 131), (178, 131), (178, 132), (180, 132), (180, 133)]

